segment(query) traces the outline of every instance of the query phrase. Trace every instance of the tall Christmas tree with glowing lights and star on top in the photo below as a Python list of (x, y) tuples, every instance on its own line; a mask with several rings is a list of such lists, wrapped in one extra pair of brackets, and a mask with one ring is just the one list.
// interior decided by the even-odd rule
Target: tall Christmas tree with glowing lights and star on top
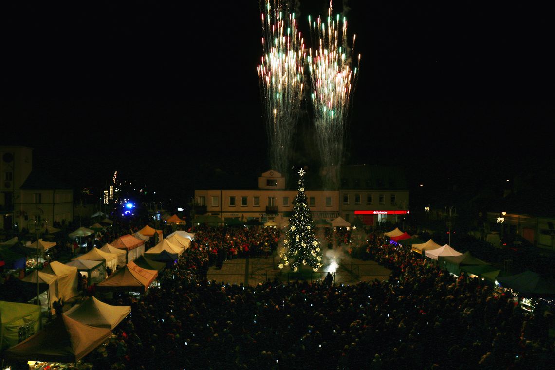
[(322, 252), (320, 242), (316, 239), (314, 223), (310, 208), (306, 204), (304, 176), (305, 171), (299, 171), (299, 193), (293, 201), (293, 211), (289, 218), (287, 237), (284, 240), (284, 249), (280, 252), (279, 268), (290, 266), (297, 271), (300, 266), (310, 266), (318, 271), (322, 267)]

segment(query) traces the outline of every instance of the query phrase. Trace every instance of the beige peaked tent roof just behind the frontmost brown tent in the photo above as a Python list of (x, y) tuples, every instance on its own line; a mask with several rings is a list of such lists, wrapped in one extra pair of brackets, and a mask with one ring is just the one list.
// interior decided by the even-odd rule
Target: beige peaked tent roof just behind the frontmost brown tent
[(112, 306), (97, 298), (88, 297), (80, 305), (64, 312), (64, 315), (85, 325), (114, 330), (130, 312), (131, 306)]

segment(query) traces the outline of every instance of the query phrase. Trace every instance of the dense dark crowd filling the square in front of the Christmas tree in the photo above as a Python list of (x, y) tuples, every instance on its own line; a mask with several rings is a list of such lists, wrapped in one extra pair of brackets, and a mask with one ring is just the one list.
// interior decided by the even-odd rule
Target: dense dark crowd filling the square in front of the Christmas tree
[(214, 233), (235, 235), (199, 230), (159, 288), (114, 298), (132, 314), (107, 357), (90, 355), (94, 369), (551, 368), (555, 359), (541, 312), (525, 315), (379, 233), (364, 248), (391, 268), (387, 281), (254, 287), (208, 280)]

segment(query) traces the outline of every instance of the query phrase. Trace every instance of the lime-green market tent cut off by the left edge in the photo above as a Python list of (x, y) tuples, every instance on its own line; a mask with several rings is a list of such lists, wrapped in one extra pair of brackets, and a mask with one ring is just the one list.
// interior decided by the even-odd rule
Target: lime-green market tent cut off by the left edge
[(20, 334), (26, 338), (38, 332), (41, 320), (41, 307), (37, 305), (0, 301), (0, 350), (21, 342)]

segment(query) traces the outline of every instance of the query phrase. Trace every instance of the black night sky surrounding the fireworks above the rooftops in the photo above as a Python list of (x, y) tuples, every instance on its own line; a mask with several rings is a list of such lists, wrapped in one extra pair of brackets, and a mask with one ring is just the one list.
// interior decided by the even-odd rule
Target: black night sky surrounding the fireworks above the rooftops
[[(553, 172), (549, 9), (346, 3), (334, 14), (362, 54), (348, 163), (403, 165), (411, 187)], [(307, 46), (307, 16), (327, 4), (297, 5)], [(184, 199), (214, 169), (268, 169), (258, 1), (2, 7), (0, 144), (32, 146), (37, 166), (75, 186), (118, 170)], [(299, 132), (295, 165), (312, 164), (310, 121)]]

